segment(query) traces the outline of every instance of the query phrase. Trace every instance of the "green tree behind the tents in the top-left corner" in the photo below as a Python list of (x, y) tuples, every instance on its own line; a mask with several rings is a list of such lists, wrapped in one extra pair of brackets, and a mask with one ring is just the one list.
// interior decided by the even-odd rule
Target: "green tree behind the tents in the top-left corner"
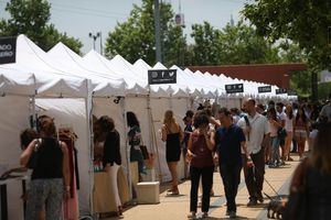
[(60, 33), (53, 24), (49, 24), (50, 9), (51, 4), (45, 0), (11, 0), (6, 6), (11, 18), (0, 21), (0, 36), (25, 34), (44, 51), (62, 42), (81, 54), (83, 44), (78, 40)]

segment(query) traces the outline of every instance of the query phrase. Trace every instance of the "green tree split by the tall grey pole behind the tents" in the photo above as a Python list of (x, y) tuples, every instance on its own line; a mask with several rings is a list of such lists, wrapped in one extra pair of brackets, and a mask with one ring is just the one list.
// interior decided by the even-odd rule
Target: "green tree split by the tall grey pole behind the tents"
[[(186, 41), (182, 29), (173, 23), (171, 4), (160, 4), (160, 28), (163, 63), (181, 65), (181, 54), (186, 52)], [(141, 7), (134, 6), (129, 19), (118, 23), (106, 38), (105, 54), (109, 58), (120, 54), (128, 62), (139, 58), (149, 64), (156, 63), (153, 0), (142, 0)]]

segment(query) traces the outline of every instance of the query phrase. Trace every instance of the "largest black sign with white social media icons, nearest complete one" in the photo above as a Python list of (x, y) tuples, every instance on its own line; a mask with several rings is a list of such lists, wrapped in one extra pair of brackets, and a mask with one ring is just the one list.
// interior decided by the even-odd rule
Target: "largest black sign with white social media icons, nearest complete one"
[(177, 84), (177, 69), (150, 69), (148, 84)]

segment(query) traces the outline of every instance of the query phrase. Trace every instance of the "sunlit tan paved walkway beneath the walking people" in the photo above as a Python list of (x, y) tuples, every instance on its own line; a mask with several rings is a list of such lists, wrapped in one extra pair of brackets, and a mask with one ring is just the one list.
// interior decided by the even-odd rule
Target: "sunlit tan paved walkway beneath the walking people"
[[(279, 195), (288, 195), (289, 184), (291, 175), (298, 165), (298, 156), (292, 156), (295, 162), (287, 162), (287, 164), (279, 168), (266, 168), (266, 175), (264, 184), (264, 193), (274, 197), (276, 194), (273, 188)], [(268, 184), (269, 183), (269, 184)], [(158, 205), (138, 205), (127, 208), (124, 212), (124, 219), (127, 220), (184, 220), (188, 219), (190, 206), (190, 180), (185, 180), (179, 185), (179, 196), (167, 196), (163, 191), (160, 194), (160, 204)], [(273, 187), (273, 188), (271, 188)], [(215, 196), (211, 198), (211, 209), (209, 218), (206, 220), (221, 220), (228, 219), (225, 216), (226, 200), (224, 197), (223, 184), (220, 177), (220, 173), (214, 173), (214, 191)], [(237, 202), (237, 219), (267, 219), (266, 207), (269, 202), (268, 198), (265, 198), (264, 204), (259, 204), (254, 208), (248, 208), (248, 193), (245, 182), (243, 179), (236, 197)], [(199, 212), (201, 210), (199, 209)], [(200, 216), (197, 216), (200, 217)], [(117, 218), (108, 218), (108, 220)]]

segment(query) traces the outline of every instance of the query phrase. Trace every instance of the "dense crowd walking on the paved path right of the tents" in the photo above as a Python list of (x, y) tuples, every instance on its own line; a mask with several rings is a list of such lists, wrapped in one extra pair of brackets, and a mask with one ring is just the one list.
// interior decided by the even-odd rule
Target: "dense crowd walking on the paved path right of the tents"
[[(329, 98), (331, 100), (331, 97)], [(298, 153), (299, 161), (309, 161), (310, 166), (316, 167), (316, 173), (319, 168), (325, 169), (324, 174), (319, 173), (317, 177), (327, 180), (330, 178), (328, 156), (319, 152), (321, 148), (328, 152), (325, 147), (330, 147), (329, 138), (324, 138), (325, 143), (321, 141), (323, 140), (321, 135), (328, 135), (325, 131), (330, 131), (330, 101), (324, 106), (305, 102), (285, 105), (274, 101), (263, 106), (256, 103), (254, 99), (248, 99), (243, 103), (242, 112), (236, 108), (229, 110), (221, 108), (214, 117), (210, 114), (210, 107), (202, 108), (201, 105), (195, 113), (188, 111), (183, 120), (185, 122), (183, 152), (186, 153), (191, 179), (189, 219), (196, 217), (200, 179), (202, 179), (202, 217), (207, 217), (214, 166), (218, 166), (223, 180), (226, 216), (229, 218), (236, 217), (235, 198), (242, 169), (249, 194), (248, 207), (264, 202), (266, 165), (269, 168), (282, 166), (287, 161), (293, 161), (292, 153)], [(319, 133), (321, 129), (323, 132)], [(319, 146), (316, 146), (317, 143)], [(307, 153), (305, 150), (308, 150)], [(321, 157), (323, 162), (317, 157)], [(319, 184), (314, 183), (314, 187), (317, 185)], [(327, 210), (324, 205), (329, 207), (330, 204), (325, 200), (330, 196), (330, 187), (325, 188), (324, 184), (322, 186), (324, 187), (322, 190), (312, 189), (310, 196), (323, 206), (319, 210), (324, 211)], [(318, 196), (322, 193), (325, 195), (319, 199)]]

